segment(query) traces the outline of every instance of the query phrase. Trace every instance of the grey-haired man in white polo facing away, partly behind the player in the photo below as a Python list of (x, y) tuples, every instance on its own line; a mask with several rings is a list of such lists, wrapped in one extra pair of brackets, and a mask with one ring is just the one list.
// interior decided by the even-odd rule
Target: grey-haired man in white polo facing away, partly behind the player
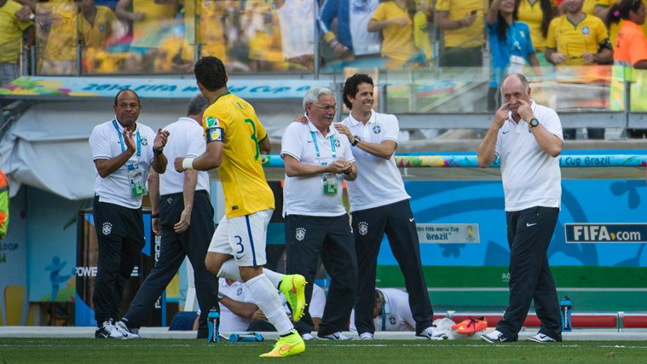
[[(196, 158), (204, 153), (206, 141), (201, 123), (202, 113), (208, 106), (204, 96), (194, 96), (189, 101), (187, 116), (164, 128), (170, 133), (164, 149), (169, 160), (183, 156)], [(153, 208), (153, 231), (162, 235), (160, 257), (139, 287), (122, 321), (131, 333), (137, 333), (184, 258), (189, 257), (201, 312), (198, 338), (206, 338), (207, 314), (209, 309), (218, 305), (217, 282), (204, 266), (204, 257), (215, 230), (209, 199), (209, 174), (195, 169), (178, 173), (169, 168), (165, 174), (153, 171), (149, 175), (149, 195)]]

